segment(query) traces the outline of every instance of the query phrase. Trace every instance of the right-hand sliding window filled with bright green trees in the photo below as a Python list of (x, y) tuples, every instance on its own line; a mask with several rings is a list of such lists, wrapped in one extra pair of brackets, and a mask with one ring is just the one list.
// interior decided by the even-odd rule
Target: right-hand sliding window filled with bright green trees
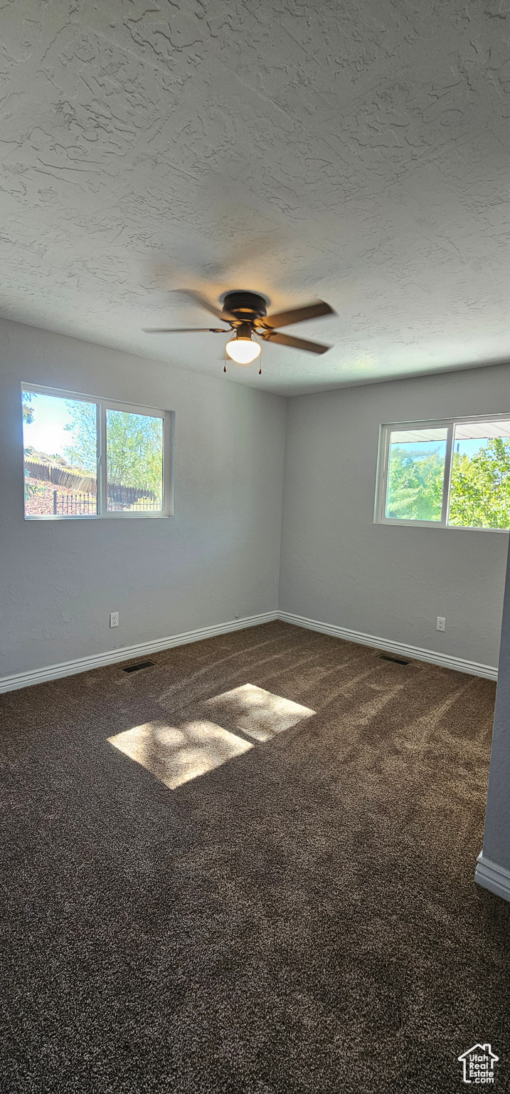
[(510, 527), (510, 417), (382, 426), (376, 521)]

